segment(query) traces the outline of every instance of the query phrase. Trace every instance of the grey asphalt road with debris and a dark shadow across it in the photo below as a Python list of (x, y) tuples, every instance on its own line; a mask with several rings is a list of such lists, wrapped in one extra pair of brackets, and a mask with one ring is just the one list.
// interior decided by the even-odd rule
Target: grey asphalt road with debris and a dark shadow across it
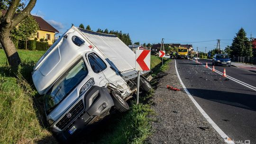
[[(211, 62), (199, 60), (201, 63)], [(201, 108), (235, 141), (256, 144), (256, 91), (212, 72), (192, 60), (176, 60), (181, 79)], [(236, 67), (215, 66), (227, 75), (256, 87), (256, 73)]]

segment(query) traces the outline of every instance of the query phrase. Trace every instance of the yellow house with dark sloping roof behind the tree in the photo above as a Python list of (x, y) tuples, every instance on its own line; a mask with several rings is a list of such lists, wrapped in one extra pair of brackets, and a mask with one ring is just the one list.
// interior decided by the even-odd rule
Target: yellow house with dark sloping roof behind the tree
[[(6, 12), (7, 10), (2, 10), (2, 15), (5, 15)], [(37, 41), (43, 38), (44, 40), (47, 39), (49, 45), (53, 45), (55, 41), (55, 35), (58, 34), (59, 31), (55, 29), (53, 26), (51, 26), (49, 23), (47, 23), (43, 18), (38, 16), (33, 16), (33, 18), (35, 18), (39, 26), (39, 30), (36, 36)]]

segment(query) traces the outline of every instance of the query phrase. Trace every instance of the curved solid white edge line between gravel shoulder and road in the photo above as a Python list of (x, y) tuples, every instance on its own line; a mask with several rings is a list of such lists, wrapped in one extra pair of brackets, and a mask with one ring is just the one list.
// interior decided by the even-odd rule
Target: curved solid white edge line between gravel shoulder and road
[(200, 105), (196, 102), (196, 100), (192, 97), (192, 95), (190, 94), (190, 92), (187, 90), (187, 88), (185, 87), (185, 85), (183, 84), (181, 77), (179, 75), (178, 69), (177, 69), (177, 64), (176, 64), (176, 60), (175, 61), (175, 70), (177, 73), (177, 76), (183, 86), (183, 89), (185, 90), (185, 92), (187, 93), (187, 95), (189, 96), (189, 98), (192, 100), (192, 102), (194, 103), (194, 105), (196, 106), (196, 108), (201, 112), (201, 114), (203, 115), (203, 117), (210, 123), (210, 125), (217, 131), (217, 133), (219, 133), (219, 135), (224, 139), (224, 141), (228, 144), (235, 144), (233, 141), (228, 141), (228, 135), (226, 135), (220, 128), (219, 126), (217, 126), (214, 121), (207, 115), (207, 113), (200, 107)]

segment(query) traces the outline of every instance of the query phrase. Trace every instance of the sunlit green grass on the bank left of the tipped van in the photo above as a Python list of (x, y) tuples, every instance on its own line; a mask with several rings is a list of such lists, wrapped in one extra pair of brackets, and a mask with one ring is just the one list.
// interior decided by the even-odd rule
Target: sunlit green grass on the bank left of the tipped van
[[(23, 65), (37, 61), (44, 52), (18, 50)], [(34, 102), (37, 91), (20, 74), (14, 77), (6, 63), (5, 53), (0, 49), (0, 144), (56, 142), (37, 118), (38, 109)], [(20, 68), (19, 72), (24, 75), (26, 72), (31, 77), (31, 70), (32, 67), (26, 71)]]

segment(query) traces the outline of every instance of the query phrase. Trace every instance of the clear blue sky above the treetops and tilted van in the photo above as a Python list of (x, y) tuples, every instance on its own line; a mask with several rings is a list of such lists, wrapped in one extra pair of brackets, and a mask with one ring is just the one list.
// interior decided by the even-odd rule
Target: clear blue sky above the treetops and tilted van
[[(230, 45), (239, 28), (256, 37), (256, 0), (37, 0), (33, 15), (61, 33), (73, 23), (129, 33), (133, 42), (192, 44), (199, 51)], [(201, 42), (201, 43), (191, 43)]]

